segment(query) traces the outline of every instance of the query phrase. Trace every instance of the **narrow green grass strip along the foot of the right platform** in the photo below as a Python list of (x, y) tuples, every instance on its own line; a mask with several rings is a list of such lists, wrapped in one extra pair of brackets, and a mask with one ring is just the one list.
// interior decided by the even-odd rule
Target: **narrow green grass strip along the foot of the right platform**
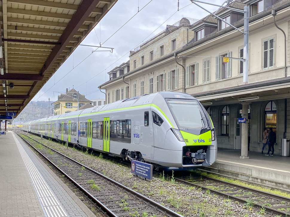
[(228, 179), (228, 178), (225, 178), (225, 177), (222, 177), (222, 176), (218, 176), (216, 174), (211, 174), (211, 173), (207, 173), (207, 172), (200, 171), (200, 170), (194, 170), (194, 171), (192, 171), (192, 173), (196, 173), (198, 175), (202, 175), (202, 176), (205, 176), (205, 177), (208, 177), (208, 178), (218, 179), (218, 180), (225, 181), (225, 182), (230, 182), (230, 183), (233, 183), (233, 184), (236, 184), (236, 185), (242, 185), (242, 186), (250, 187), (250, 188), (253, 188), (253, 189), (256, 189), (256, 190), (261, 190), (261, 191), (265, 191), (265, 192), (268, 192), (268, 193), (272, 193), (272, 194), (276, 194), (276, 195), (280, 195), (280, 196), (283, 196), (283, 197), (290, 198), (290, 194), (289, 193), (282, 192), (282, 191), (276, 190), (276, 189), (272, 190), (270, 188), (261, 187), (261, 186), (257, 186), (257, 185), (250, 185), (248, 183), (242, 182), (242, 181), (237, 180), (237, 179)]

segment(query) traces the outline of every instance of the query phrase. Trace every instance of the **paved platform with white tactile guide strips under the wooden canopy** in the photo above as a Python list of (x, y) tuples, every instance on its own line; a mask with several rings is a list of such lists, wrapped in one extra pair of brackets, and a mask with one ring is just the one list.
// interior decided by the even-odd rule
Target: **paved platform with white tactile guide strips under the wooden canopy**
[(0, 216), (94, 216), (13, 132), (0, 136)]

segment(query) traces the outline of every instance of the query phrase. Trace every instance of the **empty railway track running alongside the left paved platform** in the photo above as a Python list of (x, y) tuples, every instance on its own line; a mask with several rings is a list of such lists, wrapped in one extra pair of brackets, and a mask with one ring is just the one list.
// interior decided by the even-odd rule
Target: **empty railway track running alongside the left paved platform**
[[(16, 133), (19, 135), (19, 132)], [(28, 135), (25, 136), (29, 137)], [(21, 138), (82, 190), (109, 217), (129, 215), (182, 217), (173, 210), (162, 206), (31, 137), (29, 138), (33, 142), (28, 142), (25, 138)]]

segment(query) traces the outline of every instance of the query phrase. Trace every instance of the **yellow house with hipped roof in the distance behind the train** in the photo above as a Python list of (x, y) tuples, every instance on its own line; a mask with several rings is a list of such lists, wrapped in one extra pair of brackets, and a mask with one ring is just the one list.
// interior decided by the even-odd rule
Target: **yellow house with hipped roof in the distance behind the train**
[[(54, 105), (54, 115), (65, 114), (72, 111), (77, 111), (77, 107), (81, 107), (86, 103), (91, 103), (90, 100), (85, 98), (85, 95), (79, 94), (79, 100), (77, 100), (77, 91), (66, 89), (65, 94), (58, 95), (58, 100), (52, 103)], [(77, 103), (79, 101), (79, 104)]]

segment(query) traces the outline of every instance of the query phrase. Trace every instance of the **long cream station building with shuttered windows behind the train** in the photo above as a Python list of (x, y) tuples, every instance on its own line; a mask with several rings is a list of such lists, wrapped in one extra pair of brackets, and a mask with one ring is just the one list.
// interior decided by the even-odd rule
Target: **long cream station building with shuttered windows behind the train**
[[(281, 139), (290, 138), (290, 0), (236, 0), (227, 6), (250, 8), (247, 84), (242, 61), (220, 58), (243, 58), (243, 34), (208, 15), (168, 25), (130, 52), (129, 72), (100, 88), (106, 90), (107, 103), (159, 91), (186, 92), (210, 114), (218, 147), (241, 149), (243, 140), (250, 151), (260, 152), (264, 128), (273, 128), (274, 154), (281, 155)], [(215, 14), (243, 31), (243, 13), (220, 8)], [(127, 86), (128, 96), (120, 96), (118, 90)], [(246, 123), (238, 123), (241, 117)], [(242, 124), (248, 125), (247, 133)]]

